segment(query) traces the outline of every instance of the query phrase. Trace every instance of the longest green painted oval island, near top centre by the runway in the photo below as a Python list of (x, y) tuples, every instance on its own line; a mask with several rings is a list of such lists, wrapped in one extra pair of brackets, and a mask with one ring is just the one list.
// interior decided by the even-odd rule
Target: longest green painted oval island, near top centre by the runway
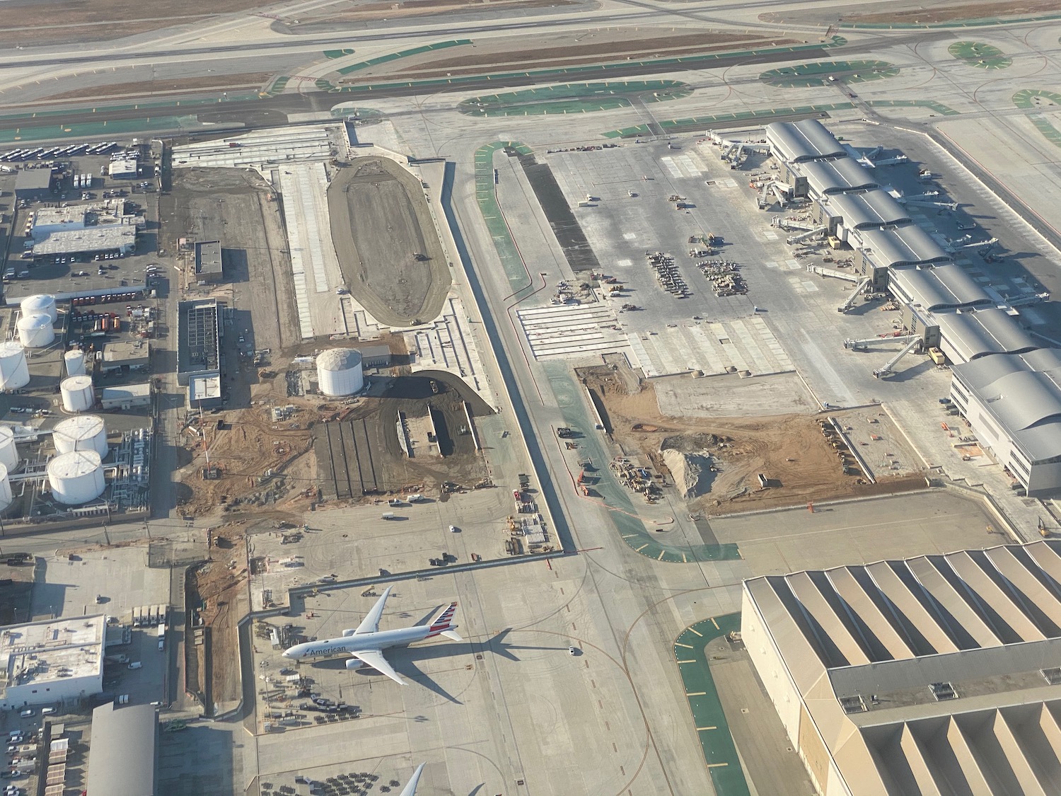
[(564, 83), (471, 97), (460, 102), (457, 110), (467, 116), (483, 117), (582, 114), (629, 107), (630, 100), (625, 94), (639, 96), (643, 102), (666, 102), (691, 93), (693, 89), (688, 83), (671, 80)]

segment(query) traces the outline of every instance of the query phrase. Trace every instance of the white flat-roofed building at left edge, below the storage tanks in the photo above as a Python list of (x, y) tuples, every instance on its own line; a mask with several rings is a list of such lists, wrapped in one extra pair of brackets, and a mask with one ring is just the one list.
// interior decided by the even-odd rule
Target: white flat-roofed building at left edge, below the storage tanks
[(103, 691), (104, 616), (0, 627), (0, 709), (82, 699)]

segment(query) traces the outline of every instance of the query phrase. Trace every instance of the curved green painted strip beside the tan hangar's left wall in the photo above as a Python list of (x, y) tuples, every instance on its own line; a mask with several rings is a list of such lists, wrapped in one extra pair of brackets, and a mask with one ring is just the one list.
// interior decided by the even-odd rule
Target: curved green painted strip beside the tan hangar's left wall
[(700, 749), (716, 796), (750, 796), (741, 759), (703, 652), (703, 647), (712, 639), (740, 629), (741, 615), (727, 613), (690, 625), (674, 642), (674, 659), (685, 687), (693, 726), (699, 737)]

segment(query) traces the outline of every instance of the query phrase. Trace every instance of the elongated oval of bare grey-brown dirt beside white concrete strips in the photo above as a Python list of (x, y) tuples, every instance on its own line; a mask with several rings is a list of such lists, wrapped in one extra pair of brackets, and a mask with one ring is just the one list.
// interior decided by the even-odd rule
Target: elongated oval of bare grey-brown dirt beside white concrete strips
[(332, 241), (347, 288), (388, 326), (433, 321), (450, 289), (423, 190), (385, 157), (355, 158), (328, 187)]

